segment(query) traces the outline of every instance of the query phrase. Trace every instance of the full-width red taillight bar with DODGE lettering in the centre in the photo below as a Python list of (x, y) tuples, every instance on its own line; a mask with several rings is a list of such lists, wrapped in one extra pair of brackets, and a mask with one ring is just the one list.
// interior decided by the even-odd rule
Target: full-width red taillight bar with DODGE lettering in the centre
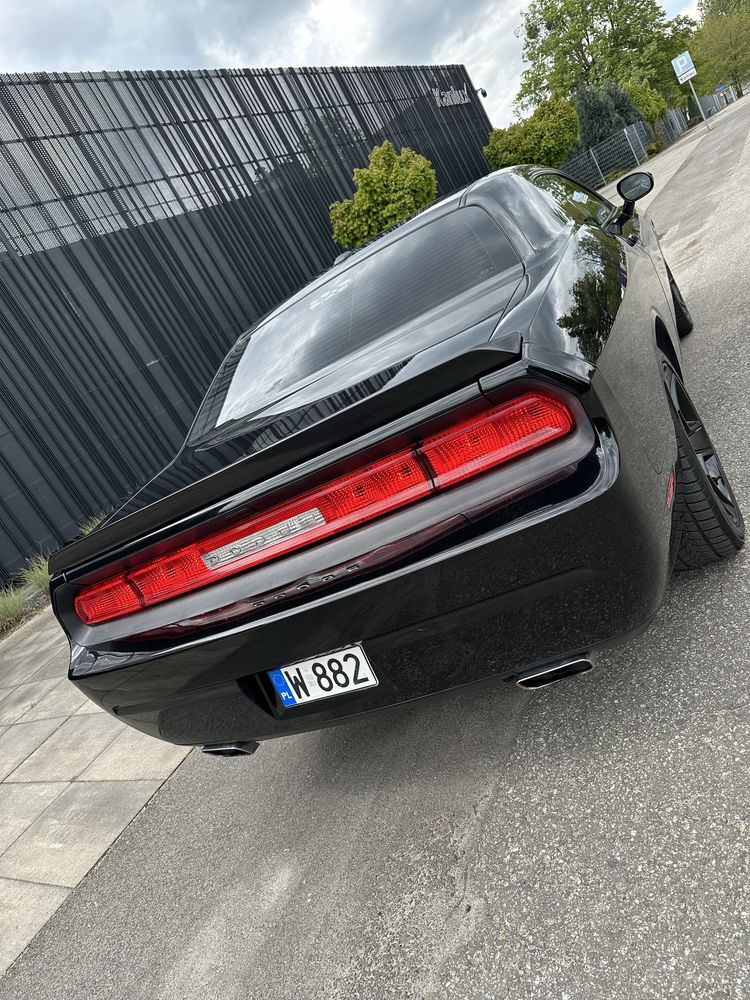
[(572, 427), (562, 403), (528, 393), (414, 449), (86, 587), (76, 598), (76, 611), (83, 622), (96, 625), (197, 590), (495, 468)]

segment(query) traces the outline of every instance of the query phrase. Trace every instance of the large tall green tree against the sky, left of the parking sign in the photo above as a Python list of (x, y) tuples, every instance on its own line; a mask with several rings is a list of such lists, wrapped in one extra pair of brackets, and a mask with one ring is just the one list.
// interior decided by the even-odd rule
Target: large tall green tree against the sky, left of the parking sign
[(531, 0), (523, 16), (522, 108), (607, 81), (645, 81), (665, 97), (680, 93), (670, 60), (688, 47), (696, 25), (668, 20), (657, 0)]

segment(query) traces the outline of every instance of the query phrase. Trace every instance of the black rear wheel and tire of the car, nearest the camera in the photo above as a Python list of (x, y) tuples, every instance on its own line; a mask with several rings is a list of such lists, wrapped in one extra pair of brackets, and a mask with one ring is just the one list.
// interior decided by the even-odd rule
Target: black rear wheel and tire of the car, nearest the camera
[(724, 467), (682, 380), (664, 363), (677, 437), (672, 531), (677, 571), (735, 555), (745, 523)]

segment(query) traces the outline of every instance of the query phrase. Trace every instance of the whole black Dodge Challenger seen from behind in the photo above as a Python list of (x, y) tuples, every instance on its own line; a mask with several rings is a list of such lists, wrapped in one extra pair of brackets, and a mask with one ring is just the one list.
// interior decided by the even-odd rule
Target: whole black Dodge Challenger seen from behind
[(491, 174), (248, 330), (174, 461), (56, 553), (70, 678), (209, 752), (500, 677), (649, 622), (742, 516), (635, 201)]

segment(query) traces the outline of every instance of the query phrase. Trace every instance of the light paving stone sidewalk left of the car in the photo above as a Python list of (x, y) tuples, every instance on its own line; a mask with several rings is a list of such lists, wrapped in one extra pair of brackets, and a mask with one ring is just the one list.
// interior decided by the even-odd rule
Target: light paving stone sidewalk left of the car
[(68, 681), (52, 612), (0, 640), (0, 975), (188, 754)]

